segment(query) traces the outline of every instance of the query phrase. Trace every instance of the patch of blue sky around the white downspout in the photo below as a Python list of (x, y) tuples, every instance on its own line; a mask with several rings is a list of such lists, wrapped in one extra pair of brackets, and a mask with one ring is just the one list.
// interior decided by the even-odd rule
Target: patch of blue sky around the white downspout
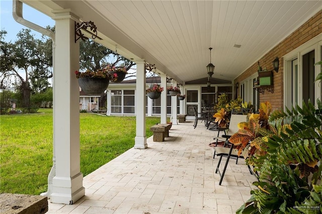
[[(26, 26), (23, 26), (16, 22), (12, 16), (12, 0), (0, 0), (0, 29), (7, 31), (7, 36), (5, 37), (6, 42), (15, 42), (17, 40), (17, 34), (21, 29), (27, 29)], [(41, 27), (54, 26), (55, 21), (50, 17), (40, 13), (39, 11), (29, 7), (26, 4), (23, 4), (23, 17), (24, 19), (33, 22)], [(41, 37), (41, 34), (32, 30), (37, 38)]]

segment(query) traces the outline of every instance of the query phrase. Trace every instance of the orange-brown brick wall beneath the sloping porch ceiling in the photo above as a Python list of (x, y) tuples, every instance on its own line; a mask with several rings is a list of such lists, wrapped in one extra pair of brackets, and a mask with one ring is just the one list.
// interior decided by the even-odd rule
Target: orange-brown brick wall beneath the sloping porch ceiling
[[(260, 93), (260, 102), (270, 101), (273, 109), (280, 109), (284, 106), (283, 103), (283, 58), (285, 54), (309, 41), (313, 37), (322, 33), (322, 10), (311, 17), (301, 27), (294, 31), (291, 35), (285, 38), (277, 46), (271, 49), (262, 58), (258, 59), (262, 68), (273, 70), (273, 60), (279, 57), (278, 73), (273, 71), (274, 93), (265, 90), (264, 94)], [(258, 63), (249, 67), (243, 74), (239, 75), (234, 82), (240, 82), (256, 73)], [(238, 91), (239, 93), (239, 91)]]

